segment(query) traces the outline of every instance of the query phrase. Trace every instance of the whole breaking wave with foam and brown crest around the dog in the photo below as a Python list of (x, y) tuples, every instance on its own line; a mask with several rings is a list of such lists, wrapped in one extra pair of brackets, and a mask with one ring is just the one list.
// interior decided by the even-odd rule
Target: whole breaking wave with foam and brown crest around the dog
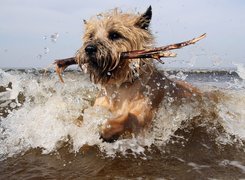
[(82, 72), (67, 72), (62, 84), (52, 72), (0, 70), (0, 157), (33, 148), (51, 153), (64, 143), (72, 152), (97, 146), (107, 156), (144, 154), (152, 146), (161, 149), (174, 141), (188, 141), (185, 132), (195, 127), (205, 127), (215, 143), (243, 145), (245, 85), (237, 73), (168, 71), (168, 75), (191, 81), (212, 99), (179, 105), (163, 101), (149, 129), (137, 137), (105, 143), (99, 139), (99, 126), (112, 114), (92, 107), (99, 88)]

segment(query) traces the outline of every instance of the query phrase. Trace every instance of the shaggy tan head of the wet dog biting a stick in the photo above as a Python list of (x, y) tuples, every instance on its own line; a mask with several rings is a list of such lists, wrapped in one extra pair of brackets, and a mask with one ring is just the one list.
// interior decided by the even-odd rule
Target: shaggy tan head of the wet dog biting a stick
[(120, 59), (125, 51), (147, 49), (153, 44), (149, 31), (151, 6), (140, 15), (119, 12), (99, 14), (85, 21), (84, 44), (77, 53), (77, 63), (86, 67), (95, 83), (123, 83), (132, 81), (150, 60)]

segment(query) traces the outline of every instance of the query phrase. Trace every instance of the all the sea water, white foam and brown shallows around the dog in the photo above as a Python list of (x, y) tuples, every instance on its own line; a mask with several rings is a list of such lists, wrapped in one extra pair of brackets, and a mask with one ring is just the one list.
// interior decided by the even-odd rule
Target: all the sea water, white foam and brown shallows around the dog
[(0, 70), (0, 179), (245, 178), (244, 72), (165, 72), (214, 98), (162, 102), (148, 130), (105, 143), (98, 130), (112, 114), (91, 106), (99, 87), (82, 72), (62, 84), (53, 72)]

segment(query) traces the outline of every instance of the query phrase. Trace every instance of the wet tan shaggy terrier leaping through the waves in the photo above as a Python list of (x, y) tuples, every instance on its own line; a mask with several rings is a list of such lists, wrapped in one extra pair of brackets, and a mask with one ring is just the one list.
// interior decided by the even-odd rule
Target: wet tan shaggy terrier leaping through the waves
[(126, 132), (138, 134), (149, 126), (166, 97), (179, 102), (201, 95), (187, 82), (168, 79), (156, 69), (153, 59), (120, 59), (122, 52), (153, 47), (151, 18), (150, 6), (143, 14), (115, 9), (84, 21), (84, 43), (76, 63), (104, 89), (94, 106), (114, 114), (100, 127), (104, 141), (113, 142)]

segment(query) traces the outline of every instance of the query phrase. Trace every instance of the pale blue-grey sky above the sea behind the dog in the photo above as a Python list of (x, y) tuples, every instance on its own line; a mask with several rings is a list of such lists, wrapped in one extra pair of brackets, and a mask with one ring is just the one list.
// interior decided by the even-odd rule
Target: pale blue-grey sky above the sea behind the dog
[(81, 47), (84, 19), (113, 8), (143, 13), (149, 5), (156, 46), (207, 33), (163, 67), (245, 64), (244, 0), (0, 0), (0, 68), (46, 68)]

